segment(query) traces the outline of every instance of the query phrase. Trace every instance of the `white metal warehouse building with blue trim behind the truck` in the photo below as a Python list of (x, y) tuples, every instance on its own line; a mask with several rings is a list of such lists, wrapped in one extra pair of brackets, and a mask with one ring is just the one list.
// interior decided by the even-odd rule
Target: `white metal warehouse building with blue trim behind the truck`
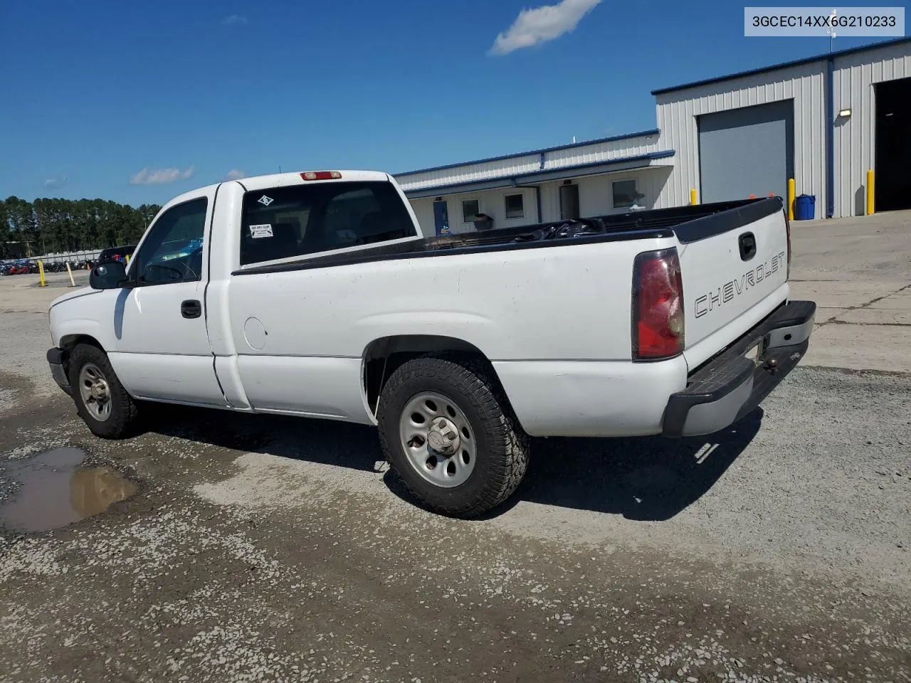
[[(813, 195), (815, 216), (911, 209), (911, 38), (652, 91), (658, 128), (396, 176), (426, 232)], [(481, 220), (476, 222), (480, 214)], [(485, 222), (491, 219), (493, 222)]]

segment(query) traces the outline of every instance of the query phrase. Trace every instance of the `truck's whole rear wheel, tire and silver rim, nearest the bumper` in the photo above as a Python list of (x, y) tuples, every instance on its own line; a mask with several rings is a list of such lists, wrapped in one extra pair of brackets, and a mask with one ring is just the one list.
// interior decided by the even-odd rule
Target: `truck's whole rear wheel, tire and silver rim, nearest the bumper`
[(377, 415), (395, 473), (434, 512), (471, 518), (521, 483), (528, 437), (486, 363), (462, 357), (404, 362)]

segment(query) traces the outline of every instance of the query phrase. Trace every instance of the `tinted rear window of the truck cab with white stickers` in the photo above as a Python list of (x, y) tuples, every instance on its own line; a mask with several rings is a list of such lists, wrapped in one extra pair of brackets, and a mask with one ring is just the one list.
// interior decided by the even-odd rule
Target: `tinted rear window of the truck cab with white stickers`
[(388, 182), (333, 182), (247, 192), (241, 266), (415, 237), (404, 202)]

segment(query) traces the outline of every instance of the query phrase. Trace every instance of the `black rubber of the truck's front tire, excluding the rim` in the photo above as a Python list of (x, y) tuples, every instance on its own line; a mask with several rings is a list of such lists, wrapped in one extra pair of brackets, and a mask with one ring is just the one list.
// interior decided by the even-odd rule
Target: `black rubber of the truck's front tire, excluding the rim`
[[(110, 416), (107, 420), (97, 420), (89, 413), (79, 391), (79, 372), (87, 363), (95, 365), (107, 382), (110, 396)], [(118, 380), (114, 368), (107, 360), (107, 353), (91, 344), (77, 344), (69, 355), (69, 383), (73, 388), (73, 401), (76, 403), (77, 413), (91, 433), (102, 439), (122, 439), (136, 431), (138, 407)]]

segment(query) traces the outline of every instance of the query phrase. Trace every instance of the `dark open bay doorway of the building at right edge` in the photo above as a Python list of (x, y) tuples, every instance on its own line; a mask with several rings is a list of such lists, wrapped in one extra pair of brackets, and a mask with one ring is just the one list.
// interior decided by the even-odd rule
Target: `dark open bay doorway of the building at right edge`
[(911, 78), (875, 85), (877, 211), (911, 209)]

